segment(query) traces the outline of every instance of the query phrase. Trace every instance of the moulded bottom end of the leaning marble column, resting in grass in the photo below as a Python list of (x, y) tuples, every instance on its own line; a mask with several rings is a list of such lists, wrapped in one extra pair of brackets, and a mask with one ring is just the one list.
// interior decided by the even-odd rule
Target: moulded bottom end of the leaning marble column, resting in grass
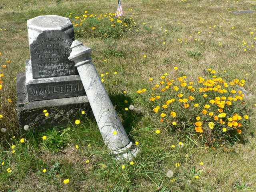
[(130, 142), (119, 150), (111, 151), (110, 154), (118, 161), (131, 161), (137, 156), (138, 152), (139, 149), (136, 146), (132, 146), (132, 142)]

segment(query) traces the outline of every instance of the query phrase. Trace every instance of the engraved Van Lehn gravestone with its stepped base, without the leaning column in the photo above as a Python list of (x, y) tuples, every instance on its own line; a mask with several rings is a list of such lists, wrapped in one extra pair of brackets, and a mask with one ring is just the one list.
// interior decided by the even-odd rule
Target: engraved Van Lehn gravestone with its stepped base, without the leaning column
[(30, 60), (26, 60), (26, 72), (17, 75), (20, 126), (62, 126), (74, 119), (78, 110), (92, 116), (80, 76), (68, 59), (74, 40), (70, 19), (38, 16), (27, 25)]

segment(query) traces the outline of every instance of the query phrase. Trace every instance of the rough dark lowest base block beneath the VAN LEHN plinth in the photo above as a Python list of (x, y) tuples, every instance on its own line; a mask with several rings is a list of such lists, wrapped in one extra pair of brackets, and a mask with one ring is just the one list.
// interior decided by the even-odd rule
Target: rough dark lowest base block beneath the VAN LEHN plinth
[[(44, 110), (49, 113), (45, 116)], [(84, 116), (94, 118), (88, 98), (76, 96), (50, 100), (28, 101), (26, 90), (26, 73), (17, 74), (17, 112), (19, 126), (35, 128), (33, 131), (45, 131), (55, 127), (61, 129), (76, 120), (76, 114), (84, 111)]]

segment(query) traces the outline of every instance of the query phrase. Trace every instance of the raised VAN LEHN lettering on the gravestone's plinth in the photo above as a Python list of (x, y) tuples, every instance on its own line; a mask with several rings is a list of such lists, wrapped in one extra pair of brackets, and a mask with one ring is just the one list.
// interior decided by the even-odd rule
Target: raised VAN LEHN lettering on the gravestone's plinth
[(71, 95), (74, 92), (81, 92), (82, 86), (77, 84), (66, 84), (58, 86), (42, 86), (42, 87), (30, 87), (30, 95), (33, 96), (50, 96), (52, 94), (68, 94)]

